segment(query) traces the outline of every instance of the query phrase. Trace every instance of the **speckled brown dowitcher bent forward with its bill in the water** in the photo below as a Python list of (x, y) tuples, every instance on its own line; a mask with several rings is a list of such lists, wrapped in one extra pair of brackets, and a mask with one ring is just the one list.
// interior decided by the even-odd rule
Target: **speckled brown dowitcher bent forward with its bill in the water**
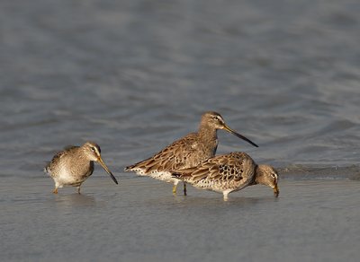
[(195, 188), (220, 192), (224, 200), (228, 199), (230, 192), (257, 184), (273, 188), (275, 196), (279, 196), (276, 170), (269, 165), (257, 165), (243, 152), (211, 157), (196, 167), (175, 171), (173, 177)]

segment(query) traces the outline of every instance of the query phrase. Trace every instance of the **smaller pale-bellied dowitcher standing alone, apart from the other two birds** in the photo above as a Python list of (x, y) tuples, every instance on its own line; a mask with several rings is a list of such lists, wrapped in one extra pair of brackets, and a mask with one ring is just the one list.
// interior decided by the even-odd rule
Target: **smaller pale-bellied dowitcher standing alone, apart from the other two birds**
[(94, 142), (86, 142), (82, 146), (69, 146), (58, 152), (45, 167), (44, 170), (55, 181), (53, 193), (58, 194), (58, 188), (63, 186), (73, 186), (80, 194), (81, 184), (93, 174), (94, 162), (99, 162), (115, 184), (118, 184), (103, 162), (100, 146)]

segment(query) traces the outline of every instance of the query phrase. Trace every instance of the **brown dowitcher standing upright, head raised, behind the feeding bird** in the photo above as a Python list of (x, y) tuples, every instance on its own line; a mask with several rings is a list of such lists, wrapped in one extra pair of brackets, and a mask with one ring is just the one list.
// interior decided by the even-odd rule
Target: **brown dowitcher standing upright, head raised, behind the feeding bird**
[[(141, 176), (171, 182), (174, 184), (173, 193), (175, 194), (179, 179), (174, 178), (171, 171), (195, 167), (214, 156), (218, 147), (218, 129), (224, 129), (249, 144), (257, 146), (244, 135), (240, 135), (228, 127), (219, 113), (210, 111), (202, 115), (198, 132), (185, 135), (173, 144), (166, 146), (159, 153), (144, 161), (130, 165), (125, 170), (135, 171)], [(186, 195), (185, 183), (184, 195)]]

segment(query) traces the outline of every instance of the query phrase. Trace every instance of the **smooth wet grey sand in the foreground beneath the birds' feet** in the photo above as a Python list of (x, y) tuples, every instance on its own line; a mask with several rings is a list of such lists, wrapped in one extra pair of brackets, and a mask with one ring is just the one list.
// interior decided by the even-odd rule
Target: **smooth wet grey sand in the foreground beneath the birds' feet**
[[(280, 181), (229, 195), (100, 175), (82, 194), (49, 178), (5, 178), (3, 261), (357, 261), (360, 181)], [(181, 187), (179, 187), (181, 188)]]

